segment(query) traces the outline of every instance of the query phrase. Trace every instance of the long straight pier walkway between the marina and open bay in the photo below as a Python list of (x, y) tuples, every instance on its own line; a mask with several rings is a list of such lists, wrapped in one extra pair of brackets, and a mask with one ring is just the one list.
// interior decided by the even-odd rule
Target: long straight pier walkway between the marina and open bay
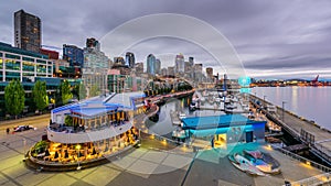
[[(252, 98), (258, 99), (261, 102), (260, 106), (256, 105), (257, 107), (273, 105), (258, 97), (252, 96)], [(323, 157), (330, 164), (331, 132), (329, 130), (323, 129), (300, 116), (296, 116), (290, 111), (282, 110), (282, 108), (279, 107), (277, 107), (277, 113), (268, 112), (265, 109), (264, 112), (269, 119), (282, 127), (293, 138), (309, 145), (317, 155)]]

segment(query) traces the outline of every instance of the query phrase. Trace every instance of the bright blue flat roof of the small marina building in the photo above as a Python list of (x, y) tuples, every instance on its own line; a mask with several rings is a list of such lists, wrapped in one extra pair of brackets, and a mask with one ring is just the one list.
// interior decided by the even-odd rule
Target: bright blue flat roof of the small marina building
[(183, 121), (183, 129), (212, 129), (225, 128), (229, 125), (246, 125), (266, 123), (266, 121), (254, 121), (242, 114), (222, 114), (212, 117), (193, 117), (185, 118)]

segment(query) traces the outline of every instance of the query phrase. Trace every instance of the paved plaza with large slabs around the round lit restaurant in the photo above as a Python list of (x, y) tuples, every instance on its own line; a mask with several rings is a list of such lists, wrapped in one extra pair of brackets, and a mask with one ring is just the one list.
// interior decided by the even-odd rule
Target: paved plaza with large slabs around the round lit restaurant
[[(44, 127), (47, 120), (44, 119)], [(266, 145), (252, 143), (228, 146), (227, 150), (192, 152), (173, 147), (156, 140), (142, 140), (132, 149), (114, 157), (110, 163), (75, 172), (47, 173), (25, 167), (23, 153), (45, 134), (44, 127), (36, 131), (0, 134), (0, 185), (282, 185), (284, 180), (299, 180), (321, 174), (320, 171), (299, 163)], [(23, 143), (25, 139), (25, 147)], [(168, 147), (171, 146), (171, 147)], [(281, 174), (265, 177), (249, 176), (236, 169), (227, 160), (229, 152), (244, 147), (270, 153), (280, 163)]]

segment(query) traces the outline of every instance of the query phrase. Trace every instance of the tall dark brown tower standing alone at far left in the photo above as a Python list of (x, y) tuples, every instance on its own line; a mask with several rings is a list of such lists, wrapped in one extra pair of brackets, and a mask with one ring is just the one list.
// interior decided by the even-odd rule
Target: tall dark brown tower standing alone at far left
[(41, 47), (41, 20), (40, 18), (19, 10), (14, 13), (14, 46), (40, 52)]

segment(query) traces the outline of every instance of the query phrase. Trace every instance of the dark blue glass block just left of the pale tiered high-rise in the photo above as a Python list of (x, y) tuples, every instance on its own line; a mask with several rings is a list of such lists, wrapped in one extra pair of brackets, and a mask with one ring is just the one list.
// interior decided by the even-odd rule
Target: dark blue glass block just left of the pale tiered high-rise
[(75, 45), (63, 45), (63, 59), (70, 63), (70, 66), (84, 66), (84, 51)]

